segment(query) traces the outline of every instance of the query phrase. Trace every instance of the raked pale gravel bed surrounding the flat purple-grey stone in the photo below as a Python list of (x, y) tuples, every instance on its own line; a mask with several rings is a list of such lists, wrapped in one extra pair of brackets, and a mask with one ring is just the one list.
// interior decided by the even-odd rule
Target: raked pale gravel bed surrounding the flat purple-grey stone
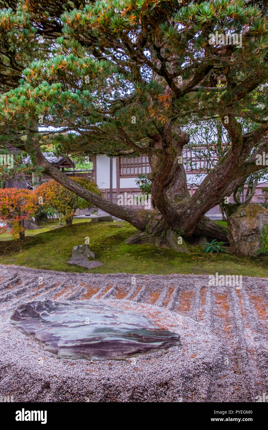
[[(0, 396), (14, 402), (256, 402), (268, 393), (268, 279), (64, 273), (0, 265)], [(102, 301), (179, 333), (182, 347), (127, 360), (59, 359), (10, 325), (21, 303)]]

